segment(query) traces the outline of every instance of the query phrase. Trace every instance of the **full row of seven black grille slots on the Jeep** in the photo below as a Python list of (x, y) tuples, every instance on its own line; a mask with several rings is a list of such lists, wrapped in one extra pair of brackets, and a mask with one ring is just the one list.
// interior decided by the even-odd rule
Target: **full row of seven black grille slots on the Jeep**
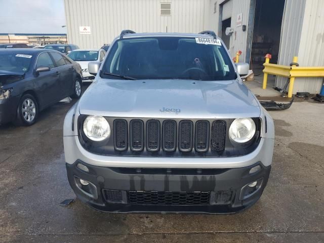
[[(128, 126), (124, 119), (113, 121), (114, 148), (118, 151), (128, 149)], [(146, 148), (149, 152), (180, 151), (188, 153), (192, 150), (202, 153), (209, 149), (223, 151), (226, 139), (226, 121), (197, 120), (195, 124), (191, 120), (159, 120), (131, 119), (129, 121), (130, 150), (140, 152)], [(210, 135), (211, 133), (211, 135)], [(211, 141), (210, 141), (211, 138)], [(161, 144), (161, 145), (160, 145)], [(211, 145), (210, 145), (211, 144)], [(211, 147), (209, 147), (211, 146)]]

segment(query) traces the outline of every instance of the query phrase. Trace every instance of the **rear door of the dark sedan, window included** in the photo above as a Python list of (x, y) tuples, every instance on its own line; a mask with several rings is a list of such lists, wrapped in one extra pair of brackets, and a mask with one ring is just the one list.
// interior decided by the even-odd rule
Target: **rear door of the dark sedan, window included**
[(73, 73), (74, 68), (72, 63), (67, 63), (62, 54), (58, 52), (51, 52), (51, 56), (54, 59), (55, 65), (60, 72), (59, 81), (59, 93), (63, 99), (71, 95), (71, 89), (73, 88)]

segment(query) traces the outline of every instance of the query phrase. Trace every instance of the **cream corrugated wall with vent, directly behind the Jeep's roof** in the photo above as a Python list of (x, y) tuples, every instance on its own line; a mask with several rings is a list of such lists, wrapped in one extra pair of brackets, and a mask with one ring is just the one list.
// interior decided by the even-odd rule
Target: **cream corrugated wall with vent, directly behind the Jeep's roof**
[[(64, 0), (68, 42), (100, 48), (123, 29), (135, 32), (199, 32), (208, 29), (210, 0)], [(171, 3), (171, 16), (160, 16), (160, 3)], [(79, 34), (90, 26), (91, 34)]]

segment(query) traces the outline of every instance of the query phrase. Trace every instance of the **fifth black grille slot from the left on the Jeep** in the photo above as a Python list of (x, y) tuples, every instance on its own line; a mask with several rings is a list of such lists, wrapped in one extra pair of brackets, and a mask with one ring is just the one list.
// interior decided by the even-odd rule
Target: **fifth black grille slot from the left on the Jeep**
[(189, 152), (192, 149), (192, 121), (182, 120), (179, 124), (179, 149)]

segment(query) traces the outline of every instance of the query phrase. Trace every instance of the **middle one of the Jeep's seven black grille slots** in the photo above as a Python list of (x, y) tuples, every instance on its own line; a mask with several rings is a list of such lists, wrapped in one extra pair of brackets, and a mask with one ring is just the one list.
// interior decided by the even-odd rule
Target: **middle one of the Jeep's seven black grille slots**
[(174, 120), (165, 120), (163, 123), (163, 149), (172, 152), (176, 149), (177, 125)]

